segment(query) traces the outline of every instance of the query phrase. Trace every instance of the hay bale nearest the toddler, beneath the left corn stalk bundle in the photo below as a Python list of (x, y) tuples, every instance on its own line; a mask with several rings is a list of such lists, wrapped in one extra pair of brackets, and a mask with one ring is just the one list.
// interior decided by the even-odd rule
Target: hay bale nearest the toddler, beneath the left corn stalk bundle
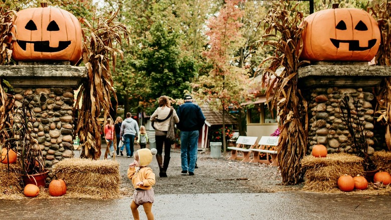
[(119, 197), (119, 163), (111, 160), (71, 158), (58, 162), (53, 175), (67, 183), (70, 193), (93, 197)]

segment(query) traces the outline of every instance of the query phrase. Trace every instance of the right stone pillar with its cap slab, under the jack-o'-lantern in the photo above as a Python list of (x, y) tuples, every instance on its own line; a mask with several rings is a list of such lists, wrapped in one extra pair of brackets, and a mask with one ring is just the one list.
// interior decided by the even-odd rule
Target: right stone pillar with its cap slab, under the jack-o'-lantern
[[(375, 135), (374, 91), (381, 80), (391, 75), (386, 66), (368, 66), (366, 62), (319, 62), (299, 69), (299, 88), (308, 102), (308, 153), (316, 144), (323, 144), (329, 153), (352, 152), (351, 135), (342, 119), (340, 104), (343, 96), (349, 96), (358, 109), (350, 107), (352, 117), (362, 122), (367, 140), (368, 154), (381, 150), (384, 135)], [(354, 124), (357, 126), (357, 124)], [(384, 128), (377, 128), (381, 133)], [(374, 136), (376, 136), (374, 138)]]

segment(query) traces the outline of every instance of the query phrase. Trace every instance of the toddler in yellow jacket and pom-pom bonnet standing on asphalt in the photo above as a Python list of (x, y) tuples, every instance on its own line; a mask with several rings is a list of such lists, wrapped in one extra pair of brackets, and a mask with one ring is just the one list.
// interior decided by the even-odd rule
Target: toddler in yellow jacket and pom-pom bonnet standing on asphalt
[(134, 186), (133, 200), (130, 204), (133, 218), (139, 219), (138, 206), (144, 207), (148, 220), (153, 220), (152, 203), (155, 198), (152, 185), (155, 184), (155, 174), (149, 167), (152, 155), (156, 155), (156, 149), (140, 149), (134, 154), (133, 163), (129, 164), (128, 178), (132, 180)]

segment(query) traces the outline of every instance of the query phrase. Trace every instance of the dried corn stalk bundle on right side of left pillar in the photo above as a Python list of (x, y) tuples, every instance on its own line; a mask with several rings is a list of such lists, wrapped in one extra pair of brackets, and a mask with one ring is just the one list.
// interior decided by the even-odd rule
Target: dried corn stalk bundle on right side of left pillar
[[(111, 105), (110, 97), (117, 100), (113, 87), (113, 71), (117, 54), (123, 59), (123, 52), (116, 48), (122, 44), (122, 39), (128, 39), (128, 31), (122, 23), (115, 22), (118, 12), (110, 13), (107, 17), (99, 17), (93, 27), (82, 19), (86, 28), (82, 29), (83, 62), (87, 68), (87, 80), (84, 81), (77, 96), (76, 103), (82, 100), (82, 105), (76, 104), (78, 121), (76, 134), (82, 147), (81, 158), (99, 160), (101, 155), (101, 131), (106, 123)], [(87, 36), (89, 33), (89, 36)], [(99, 118), (104, 120), (99, 121)]]

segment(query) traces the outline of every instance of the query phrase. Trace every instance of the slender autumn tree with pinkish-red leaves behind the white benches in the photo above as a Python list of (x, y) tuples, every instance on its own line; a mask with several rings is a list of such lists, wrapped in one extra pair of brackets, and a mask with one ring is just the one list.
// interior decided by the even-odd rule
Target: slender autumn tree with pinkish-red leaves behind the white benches
[[(240, 19), (243, 12), (237, 7), (240, 1), (226, 1), (217, 16), (208, 20), (210, 38), (208, 50), (204, 56), (212, 63), (209, 75), (201, 76), (194, 83), (194, 92), (223, 111), (223, 134), (225, 134), (225, 116), (229, 108), (239, 108), (240, 100), (247, 95), (248, 76), (243, 68), (235, 62), (235, 54), (243, 44), (240, 31), (243, 23)], [(224, 154), (226, 153), (226, 138), (223, 135)]]

